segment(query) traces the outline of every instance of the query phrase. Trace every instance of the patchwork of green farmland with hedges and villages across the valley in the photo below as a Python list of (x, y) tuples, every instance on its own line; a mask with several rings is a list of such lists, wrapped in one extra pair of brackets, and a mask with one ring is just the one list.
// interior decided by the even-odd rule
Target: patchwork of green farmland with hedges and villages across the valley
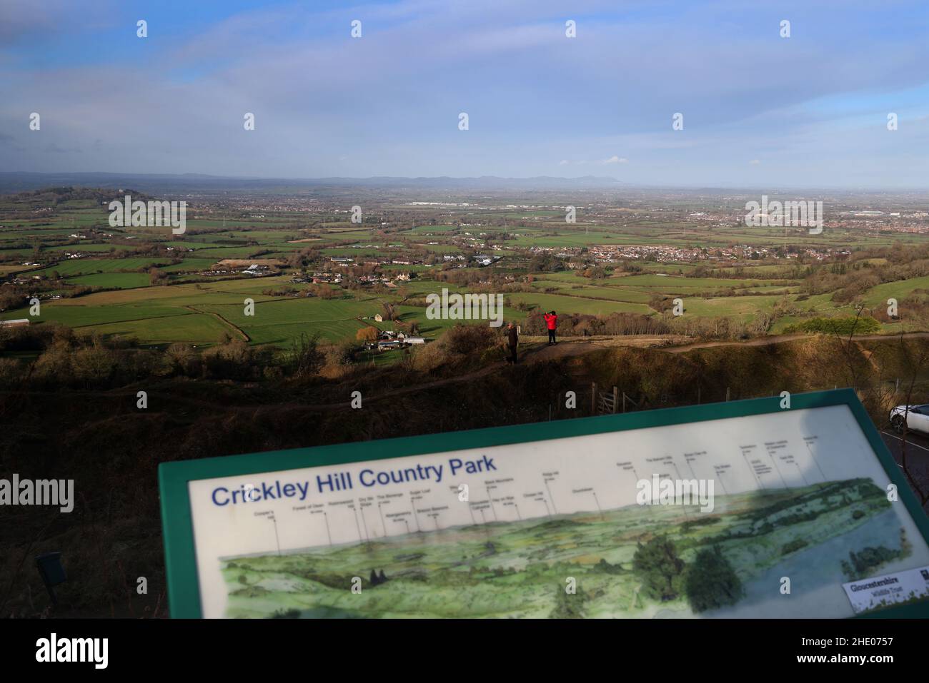
[(929, 290), (929, 274), (907, 277), (905, 267), (882, 281), (892, 251), (914, 250), (918, 261), (924, 219), (893, 234), (848, 221), (812, 236), (746, 227), (738, 206), (717, 208), (707, 225), (703, 212), (656, 221), (654, 207), (605, 202), (566, 224), (551, 209), (412, 211), (392, 201), (359, 226), (331, 200), (312, 202), (313, 211), (248, 213), (205, 200), (185, 233), (172, 235), (111, 227), (110, 194), (57, 188), (0, 200), (0, 320), (142, 345), (242, 339), (287, 348), (305, 335), (353, 342), (368, 327), (429, 340), (456, 322), (425, 315), (425, 297), (445, 289), (502, 294), (505, 318), (517, 324), (549, 310), (563, 319), (725, 318), (728, 334), (754, 336), (865, 307), (884, 332), (924, 327), (916, 316), (872, 314), (888, 299), (919, 303)]

